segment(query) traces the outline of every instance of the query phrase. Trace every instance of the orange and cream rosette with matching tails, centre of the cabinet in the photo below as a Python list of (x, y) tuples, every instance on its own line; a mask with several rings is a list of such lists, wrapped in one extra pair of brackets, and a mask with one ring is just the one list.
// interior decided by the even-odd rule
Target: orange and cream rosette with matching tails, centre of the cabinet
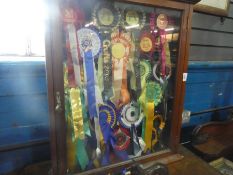
[(127, 63), (131, 49), (131, 38), (129, 33), (113, 32), (112, 61), (113, 61), (113, 87), (114, 97), (111, 99), (117, 106), (127, 104), (130, 94), (127, 90)]

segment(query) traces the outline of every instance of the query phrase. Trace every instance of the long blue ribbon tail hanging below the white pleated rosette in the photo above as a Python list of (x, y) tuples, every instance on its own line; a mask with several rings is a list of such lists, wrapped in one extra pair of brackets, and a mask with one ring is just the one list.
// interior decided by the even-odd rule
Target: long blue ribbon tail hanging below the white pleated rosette
[(86, 69), (87, 80), (87, 101), (90, 118), (97, 117), (96, 98), (95, 98), (95, 72), (94, 72), (94, 58), (91, 50), (85, 51), (84, 62)]

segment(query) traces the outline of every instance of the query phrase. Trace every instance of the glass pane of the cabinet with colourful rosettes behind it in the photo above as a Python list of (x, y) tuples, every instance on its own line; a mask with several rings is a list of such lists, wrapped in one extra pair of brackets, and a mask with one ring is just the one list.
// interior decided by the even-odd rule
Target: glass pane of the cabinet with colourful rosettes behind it
[(181, 12), (78, 0), (62, 14), (67, 171), (166, 149)]

